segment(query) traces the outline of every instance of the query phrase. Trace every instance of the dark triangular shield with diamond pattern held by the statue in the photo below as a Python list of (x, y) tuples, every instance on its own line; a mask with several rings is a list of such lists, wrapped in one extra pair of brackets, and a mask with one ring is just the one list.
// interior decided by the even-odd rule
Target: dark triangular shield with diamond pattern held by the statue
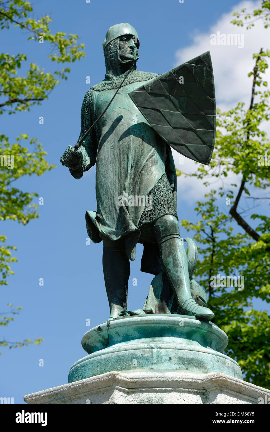
[(209, 165), (215, 146), (215, 86), (210, 52), (130, 92), (153, 129), (173, 149)]

